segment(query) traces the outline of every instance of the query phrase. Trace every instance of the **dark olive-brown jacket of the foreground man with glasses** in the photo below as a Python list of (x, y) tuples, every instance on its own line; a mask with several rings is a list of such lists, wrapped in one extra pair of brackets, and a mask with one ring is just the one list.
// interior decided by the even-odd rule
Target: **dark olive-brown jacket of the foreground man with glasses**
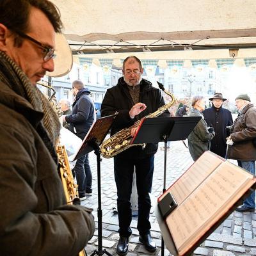
[(58, 168), (35, 130), (43, 113), (0, 82), (0, 255), (77, 255), (92, 210), (66, 205)]

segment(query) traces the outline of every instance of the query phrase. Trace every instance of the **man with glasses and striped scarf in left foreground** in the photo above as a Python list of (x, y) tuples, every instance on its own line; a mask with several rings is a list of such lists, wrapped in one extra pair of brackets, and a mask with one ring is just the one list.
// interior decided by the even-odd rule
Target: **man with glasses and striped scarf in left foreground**
[(0, 1), (0, 255), (78, 255), (93, 236), (92, 210), (67, 205), (60, 122), (36, 88), (61, 27), (48, 0)]

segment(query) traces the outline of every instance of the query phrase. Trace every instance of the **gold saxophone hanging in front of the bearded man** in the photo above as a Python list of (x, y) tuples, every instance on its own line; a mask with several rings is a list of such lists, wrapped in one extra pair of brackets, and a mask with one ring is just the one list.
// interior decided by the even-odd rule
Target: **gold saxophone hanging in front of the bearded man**
[(172, 107), (176, 99), (173, 95), (173, 93), (170, 93), (166, 90), (164, 90), (163, 84), (157, 82), (159, 85), (159, 88), (164, 91), (167, 95), (169, 95), (172, 100), (162, 106), (161, 108), (157, 109), (154, 113), (147, 115), (140, 120), (138, 120), (134, 125), (132, 125), (129, 128), (122, 129), (118, 132), (116, 132), (113, 136), (108, 138), (107, 140), (104, 140), (102, 145), (100, 146), (101, 155), (105, 158), (111, 158), (113, 156), (116, 156), (117, 154), (123, 152), (124, 150), (127, 150), (127, 148), (130, 148), (132, 146), (138, 146), (140, 144), (131, 144), (132, 136), (131, 136), (131, 129), (139, 127), (141, 122), (144, 120), (144, 118), (152, 118), (157, 117), (166, 111), (166, 109)]

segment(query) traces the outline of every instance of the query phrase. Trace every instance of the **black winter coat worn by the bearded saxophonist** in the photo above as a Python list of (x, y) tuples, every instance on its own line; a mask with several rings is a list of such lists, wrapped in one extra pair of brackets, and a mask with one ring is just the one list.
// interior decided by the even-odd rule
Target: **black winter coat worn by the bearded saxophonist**
[[(118, 111), (113, 127), (111, 128), (111, 136), (121, 129), (130, 127), (137, 120), (143, 118), (144, 116), (154, 113), (158, 108), (164, 105), (164, 99), (161, 95), (161, 91), (152, 86), (150, 81), (145, 79), (141, 80), (140, 85), (140, 102), (144, 103), (147, 108), (140, 113), (140, 115), (135, 116), (131, 119), (129, 116), (129, 111), (134, 106), (132, 102), (131, 95), (129, 94), (128, 85), (124, 81), (124, 77), (118, 79), (118, 84), (116, 86), (107, 90), (106, 95), (102, 101), (100, 113), (101, 116), (113, 115)], [(170, 113), (166, 111), (162, 116), (170, 116)], [(143, 159), (157, 151), (157, 143), (148, 143), (144, 149), (141, 146), (131, 147), (124, 152), (120, 153), (118, 156), (125, 158), (137, 158)]]

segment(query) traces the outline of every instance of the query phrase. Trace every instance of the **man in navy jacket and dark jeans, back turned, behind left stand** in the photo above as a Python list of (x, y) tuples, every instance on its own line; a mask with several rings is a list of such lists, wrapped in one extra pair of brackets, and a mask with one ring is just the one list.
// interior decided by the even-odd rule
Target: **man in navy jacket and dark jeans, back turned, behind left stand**
[[(90, 91), (88, 88), (84, 88), (82, 81), (74, 81), (72, 90), (75, 97), (72, 113), (63, 115), (63, 121), (70, 125), (70, 131), (83, 140), (95, 118), (94, 103), (90, 97)], [(79, 198), (85, 200), (86, 194), (92, 195), (92, 171), (88, 154), (77, 159), (73, 173), (77, 180)]]

